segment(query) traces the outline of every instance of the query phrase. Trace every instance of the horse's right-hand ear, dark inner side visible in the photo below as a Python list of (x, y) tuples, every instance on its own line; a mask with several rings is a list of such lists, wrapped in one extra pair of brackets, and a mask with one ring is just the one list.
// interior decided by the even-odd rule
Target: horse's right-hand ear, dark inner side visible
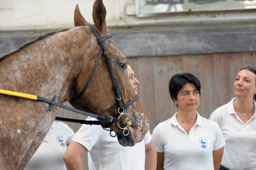
[(103, 1), (96, 0), (93, 4), (92, 19), (94, 21), (94, 27), (101, 35), (107, 34), (106, 13), (107, 11)]

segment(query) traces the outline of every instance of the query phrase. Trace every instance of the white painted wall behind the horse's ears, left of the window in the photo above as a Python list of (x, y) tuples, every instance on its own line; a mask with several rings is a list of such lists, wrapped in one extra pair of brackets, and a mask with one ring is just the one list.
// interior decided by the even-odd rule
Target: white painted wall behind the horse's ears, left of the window
[[(89, 23), (94, 0), (0, 0), (0, 29), (73, 27), (76, 4)], [(106, 21), (120, 20), (121, 0), (103, 0)], [(123, 0), (123, 9), (135, 0)]]

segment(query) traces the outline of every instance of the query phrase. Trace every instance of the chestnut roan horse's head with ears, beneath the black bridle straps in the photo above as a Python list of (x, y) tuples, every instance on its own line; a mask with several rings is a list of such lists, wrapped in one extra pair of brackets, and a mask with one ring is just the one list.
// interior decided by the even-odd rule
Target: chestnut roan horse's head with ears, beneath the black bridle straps
[[(94, 27), (101, 36), (108, 34), (106, 28), (106, 9), (102, 0), (96, 0), (93, 5), (92, 17), (94, 21)], [(88, 65), (81, 69), (78, 76), (74, 79), (72, 90), (70, 91), (70, 99), (76, 98), (78, 94), (84, 88), (92, 68), (96, 62), (97, 55), (100, 52), (100, 46), (96, 41), (96, 37), (90, 30), (88, 26), (81, 26), (86, 24), (87, 21), (81, 15), (78, 5), (76, 5), (74, 14), (75, 27), (79, 27), (82, 31), (86, 32), (84, 36), (90, 37), (87, 39), (87, 46), (90, 50), (86, 51), (87, 55), (92, 56), (91, 59), (85, 61)], [(136, 95), (130, 84), (128, 74), (127, 74), (127, 59), (125, 56), (117, 49), (114, 40), (109, 39), (104, 41), (105, 47), (109, 53), (110, 61), (117, 77), (120, 91), (123, 95), (125, 103), (128, 103)], [(97, 51), (97, 52), (96, 52)], [(90, 68), (88, 68), (90, 67)], [(84, 94), (76, 101), (70, 102), (70, 104), (80, 110), (88, 111), (95, 114), (108, 115), (114, 117), (118, 112), (117, 99), (115, 92), (113, 90), (113, 82), (111, 79), (109, 67), (105, 58), (102, 54), (99, 64), (95, 70), (95, 73), (91, 79), (91, 82), (84, 92)], [(125, 136), (121, 128), (114, 123), (110, 126), (110, 129), (117, 133), (118, 141), (123, 146), (133, 146), (135, 143), (140, 142), (146, 132), (149, 129), (148, 120), (141, 108), (139, 101), (137, 100), (130, 107), (128, 107), (124, 113), (130, 116), (130, 121), (132, 125), (128, 127), (129, 135)], [(128, 120), (127, 116), (120, 117), (120, 127), (125, 127)], [(102, 120), (100, 120), (102, 121)], [(102, 121), (106, 124), (107, 121)]]

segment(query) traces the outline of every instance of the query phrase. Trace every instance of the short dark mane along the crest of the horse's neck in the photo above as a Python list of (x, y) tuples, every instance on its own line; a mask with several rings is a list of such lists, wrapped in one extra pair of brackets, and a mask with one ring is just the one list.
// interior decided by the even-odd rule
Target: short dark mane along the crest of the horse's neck
[(19, 51), (25, 49), (26, 47), (30, 46), (31, 44), (34, 44), (34, 43), (36, 43), (36, 42), (39, 42), (39, 41), (41, 41), (41, 40), (43, 40), (43, 39), (45, 39), (45, 38), (47, 38), (47, 37), (49, 37), (49, 36), (51, 36), (51, 35), (54, 35), (54, 34), (58, 33), (58, 32), (64, 32), (64, 31), (67, 31), (67, 30), (69, 30), (69, 29), (64, 29), (64, 30), (51, 30), (50, 32), (48, 32), (48, 33), (46, 33), (46, 34), (41, 35), (41, 36), (37, 37), (36, 39), (34, 39), (34, 40), (32, 40), (32, 41), (26, 43), (26, 44), (23, 44), (23, 45), (20, 46), (17, 50), (15, 50), (15, 51), (13, 51), (13, 52), (11, 52), (11, 53), (9, 53), (9, 54), (6, 54), (6, 55), (2, 56), (2, 57), (0, 58), (0, 62), (2, 62), (2, 61), (3, 61), (4, 59), (6, 59), (7, 57), (10, 57), (10, 56), (14, 55), (15, 53), (17, 53), (17, 52), (19, 52)]

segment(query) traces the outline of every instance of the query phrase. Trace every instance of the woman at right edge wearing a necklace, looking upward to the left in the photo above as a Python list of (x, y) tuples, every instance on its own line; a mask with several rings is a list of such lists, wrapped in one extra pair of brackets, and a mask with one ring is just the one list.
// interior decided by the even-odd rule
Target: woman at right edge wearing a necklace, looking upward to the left
[(221, 170), (256, 170), (256, 67), (243, 67), (235, 78), (236, 97), (211, 114), (226, 139)]

